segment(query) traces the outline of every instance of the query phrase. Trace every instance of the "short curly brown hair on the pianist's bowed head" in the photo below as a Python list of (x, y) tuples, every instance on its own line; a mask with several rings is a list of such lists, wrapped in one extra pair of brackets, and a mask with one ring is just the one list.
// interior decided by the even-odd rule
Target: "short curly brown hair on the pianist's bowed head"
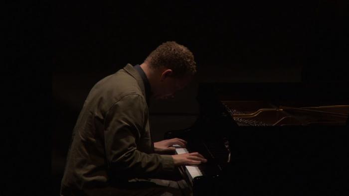
[(174, 41), (162, 43), (147, 57), (145, 62), (151, 68), (166, 67), (173, 70), (173, 77), (183, 77), (196, 73), (196, 63), (193, 54), (183, 45)]

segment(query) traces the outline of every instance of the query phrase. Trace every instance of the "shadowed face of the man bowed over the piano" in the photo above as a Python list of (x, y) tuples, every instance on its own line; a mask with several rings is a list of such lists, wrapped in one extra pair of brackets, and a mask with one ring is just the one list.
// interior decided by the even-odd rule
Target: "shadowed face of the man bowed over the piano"
[(184, 78), (166, 77), (161, 83), (161, 88), (156, 99), (174, 98), (174, 93), (182, 90), (191, 81), (191, 76)]

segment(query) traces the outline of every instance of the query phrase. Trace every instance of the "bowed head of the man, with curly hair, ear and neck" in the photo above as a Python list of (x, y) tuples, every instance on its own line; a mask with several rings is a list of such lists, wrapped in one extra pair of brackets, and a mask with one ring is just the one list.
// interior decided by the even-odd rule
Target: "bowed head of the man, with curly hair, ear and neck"
[(161, 44), (141, 65), (154, 98), (173, 97), (196, 73), (194, 56), (185, 46), (169, 41)]

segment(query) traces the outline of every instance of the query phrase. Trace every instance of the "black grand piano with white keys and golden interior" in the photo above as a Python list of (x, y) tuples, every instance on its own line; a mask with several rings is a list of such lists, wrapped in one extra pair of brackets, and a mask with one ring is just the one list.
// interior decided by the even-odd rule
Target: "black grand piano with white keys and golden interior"
[(202, 83), (199, 116), (165, 139), (208, 161), (178, 168), (194, 196), (348, 191), (348, 83)]

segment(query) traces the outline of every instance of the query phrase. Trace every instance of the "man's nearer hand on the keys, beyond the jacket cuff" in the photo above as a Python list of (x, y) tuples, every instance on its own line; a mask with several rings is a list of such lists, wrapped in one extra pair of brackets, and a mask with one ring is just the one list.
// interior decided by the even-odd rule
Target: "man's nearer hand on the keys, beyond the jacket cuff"
[(180, 166), (180, 165), (198, 165), (200, 163), (206, 163), (207, 159), (205, 159), (201, 154), (198, 152), (193, 153), (185, 153), (180, 155), (172, 155), (174, 158), (174, 165)]

